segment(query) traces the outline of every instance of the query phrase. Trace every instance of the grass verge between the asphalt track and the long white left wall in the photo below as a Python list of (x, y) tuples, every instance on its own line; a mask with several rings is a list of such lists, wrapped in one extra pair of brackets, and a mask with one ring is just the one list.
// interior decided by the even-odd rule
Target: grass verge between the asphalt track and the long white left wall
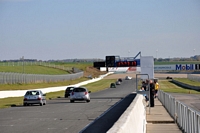
[[(104, 90), (106, 88), (110, 87), (111, 82), (115, 82), (116, 79), (103, 79), (95, 83), (90, 83), (88, 85), (85, 85), (84, 87), (87, 87), (88, 90), (90, 90), (92, 93)], [(79, 81), (74, 81), (70, 82), (71, 84), (80, 82)], [(65, 85), (68, 85), (65, 83)], [(64, 90), (63, 91), (58, 91), (58, 92), (50, 92), (46, 94), (46, 99), (54, 99), (54, 98), (59, 98), (64, 96)], [(9, 97), (9, 98), (2, 98), (0, 99), (0, 108), (8, 108), (10, 106), (19, 106), (23, 104), (23, 97)], [(48, 104), (48, 103), (47, 103)]]

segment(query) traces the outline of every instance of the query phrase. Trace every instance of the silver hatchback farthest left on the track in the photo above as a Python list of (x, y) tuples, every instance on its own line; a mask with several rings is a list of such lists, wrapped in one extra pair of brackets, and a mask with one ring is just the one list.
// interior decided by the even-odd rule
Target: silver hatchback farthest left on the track
[(43, 94), (41, 90), (29, 90), (24, 95), (24, 106), (31, 104), (39, 104), (42, 106), (46, 103), (46, 94)]

